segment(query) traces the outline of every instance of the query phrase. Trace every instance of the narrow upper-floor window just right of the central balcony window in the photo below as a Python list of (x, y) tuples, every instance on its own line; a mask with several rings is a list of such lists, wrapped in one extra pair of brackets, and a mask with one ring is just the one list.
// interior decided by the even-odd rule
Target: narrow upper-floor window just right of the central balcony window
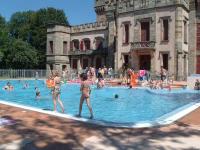
[(169, 20), (163, 19), (162, 21), (162, 41), (169, 40)]

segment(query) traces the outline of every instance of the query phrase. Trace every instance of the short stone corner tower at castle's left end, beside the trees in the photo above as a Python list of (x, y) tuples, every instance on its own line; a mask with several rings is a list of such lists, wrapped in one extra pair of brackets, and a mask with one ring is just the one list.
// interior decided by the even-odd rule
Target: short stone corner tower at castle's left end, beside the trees
[(69, 68), (70, 27), (52, 25), (47, 29), (47, 70)]

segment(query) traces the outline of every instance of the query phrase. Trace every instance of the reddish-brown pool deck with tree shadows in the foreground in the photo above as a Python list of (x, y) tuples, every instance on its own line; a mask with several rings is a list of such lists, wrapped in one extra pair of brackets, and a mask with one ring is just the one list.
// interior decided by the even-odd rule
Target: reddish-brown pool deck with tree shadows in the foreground
[(199, 150), (200, 109), (165, 127), (108, 128), (0, 104), (0, 150)]

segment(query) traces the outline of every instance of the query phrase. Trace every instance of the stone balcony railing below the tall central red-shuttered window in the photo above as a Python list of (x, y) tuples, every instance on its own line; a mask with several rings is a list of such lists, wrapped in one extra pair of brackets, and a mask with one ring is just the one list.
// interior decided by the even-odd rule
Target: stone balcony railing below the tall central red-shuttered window
[(155, 41), (145, 41), (145, 42), (133, 42), (131, 43), (132, 49), (154, 49)]

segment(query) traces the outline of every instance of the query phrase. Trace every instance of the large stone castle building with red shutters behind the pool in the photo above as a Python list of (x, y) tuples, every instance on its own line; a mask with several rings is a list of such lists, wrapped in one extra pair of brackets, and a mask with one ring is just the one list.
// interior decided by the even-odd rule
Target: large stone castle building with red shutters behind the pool
[(48, 27), (47, 69), (79, 70), (105, 65), (115, 70), (129, 66), (160, 72), (163, 66), (177, 79), (199, 73), (197, 3), (197, 0), (96, 0), (97, 22)]

